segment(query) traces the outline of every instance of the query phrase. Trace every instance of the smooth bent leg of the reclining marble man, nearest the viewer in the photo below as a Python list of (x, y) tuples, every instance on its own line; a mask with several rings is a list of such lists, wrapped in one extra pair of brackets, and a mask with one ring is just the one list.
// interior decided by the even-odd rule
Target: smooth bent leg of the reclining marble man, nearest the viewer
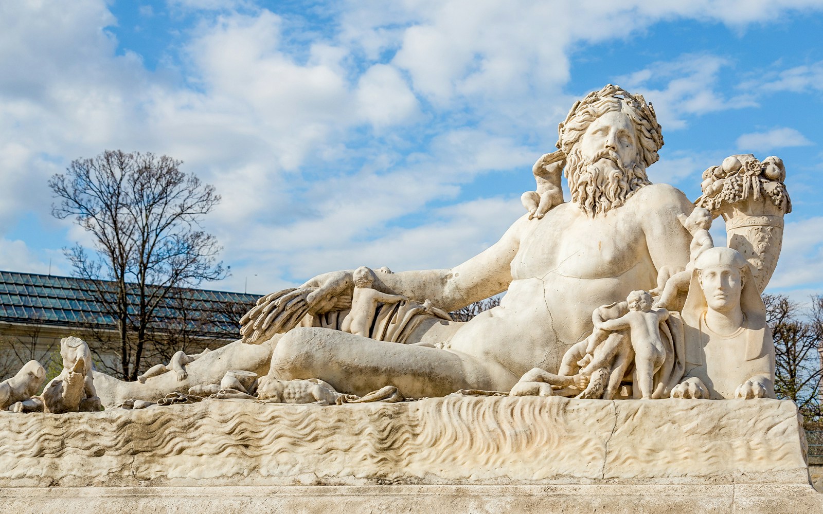
[(497, 364), (418, 345), (399, 345), (325, 328), (295, 328), (277, 343), (269, 374), (320, 378), (363, 396), (387, 385), (403, 396), (445, 396), (460, 389), (504, 390), (517, 377)]

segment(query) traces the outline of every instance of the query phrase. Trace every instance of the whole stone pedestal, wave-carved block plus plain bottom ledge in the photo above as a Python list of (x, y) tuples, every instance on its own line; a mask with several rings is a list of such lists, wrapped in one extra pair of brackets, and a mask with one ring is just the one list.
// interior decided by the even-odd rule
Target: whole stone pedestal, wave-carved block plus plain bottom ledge
[(790, 401), (0, 414), (3, 512), (823, 512)]

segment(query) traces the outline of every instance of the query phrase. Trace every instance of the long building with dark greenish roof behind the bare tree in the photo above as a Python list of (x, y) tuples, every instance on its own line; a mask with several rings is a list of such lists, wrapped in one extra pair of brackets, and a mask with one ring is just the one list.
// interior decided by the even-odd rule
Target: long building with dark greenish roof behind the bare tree
[[(0, 380), (31, 359), (47, 371), (58, 367), (59, 341), (66, 336), (89, 343), (95, 368), (118, 374), (124, 347), (106, 301), (112, 290), (113, 283), (105, 280), (0, 271)], [(257, 299), (256, 294), (171, 289), (151, 318), (140, 371), (167, 361), (176, 350), (197, 353), (239, 339), (239, 318)]]

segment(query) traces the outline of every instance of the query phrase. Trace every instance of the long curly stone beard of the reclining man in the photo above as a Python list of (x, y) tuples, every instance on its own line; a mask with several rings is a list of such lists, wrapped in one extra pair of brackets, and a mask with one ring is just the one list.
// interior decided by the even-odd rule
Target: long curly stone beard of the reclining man
[(613, 150), (602, 150), (591, 160), (586, 160), (580, 150), (572, 150), (566, 158), (565, 176), (571, 201), (592, 217), (622, 206), (650, 183), (642, 164), (629, 168)]

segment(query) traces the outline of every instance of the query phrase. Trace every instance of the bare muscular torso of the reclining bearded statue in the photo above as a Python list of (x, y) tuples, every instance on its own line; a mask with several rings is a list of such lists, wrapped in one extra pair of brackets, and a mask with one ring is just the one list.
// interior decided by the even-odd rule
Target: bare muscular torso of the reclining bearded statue
[[(592, 330), (595, 308), (653, 288), (661, 266), (686, 264), (689, 236), (677, 212), (689, 209), (677, 189), (653, 185), (594, 218), (573, 203), (542, 220), (524, 216), (509, 230), (517, 246), (500, 307), (461, 327), (449, 349), (493, 359), (513, 376), (535, 366), (556, 371), (565, 350)], [(679, 251), (669, 248), (664, 262), (658, 245)]]

